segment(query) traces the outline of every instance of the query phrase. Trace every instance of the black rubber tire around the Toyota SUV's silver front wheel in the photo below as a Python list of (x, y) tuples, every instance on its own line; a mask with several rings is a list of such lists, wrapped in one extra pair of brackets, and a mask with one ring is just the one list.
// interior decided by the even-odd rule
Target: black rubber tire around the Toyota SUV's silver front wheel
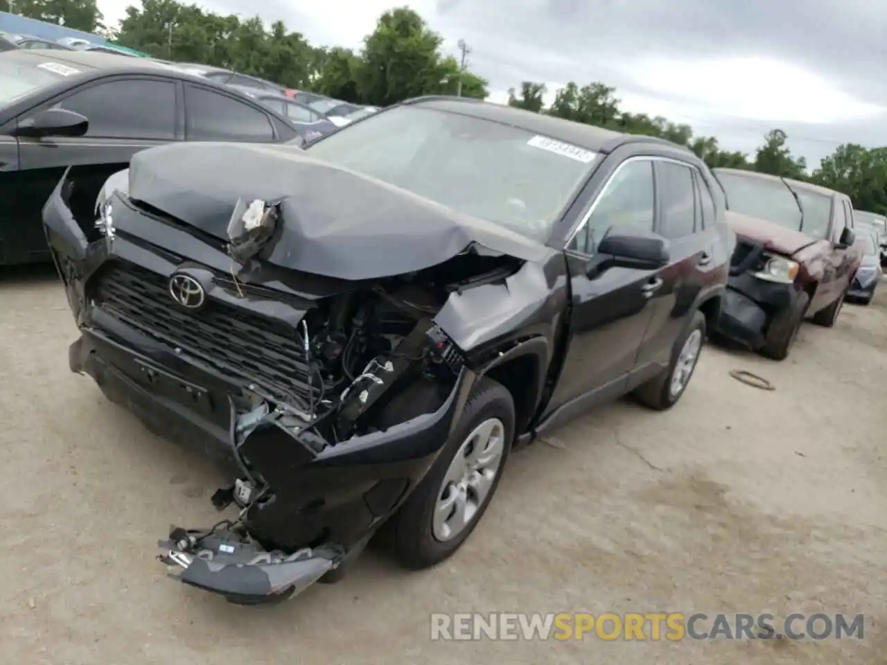
[[(436, 507), (443, 497), (471, 497), (473, 486), (456, 489), (444, 480), (451, 472), (451, 465), (456, 464), (457, 456), (461, 458), (470, 441), (469, 435), (484, 423), (498, 421), (497, 431), (501, 434), (501, 456), (495, 475), (491, 478), (486, 495), (475, 505), (474, 513), (468, 518), (467, 524), (458, 532), (451, 530), (451, 536), (439, 537), (443, 528), (436, 527)], [(434, 465), (426, 474), (419, 486), (413, 490), (404, 505), (392, 518), (392, 538), (396, 559), (407, 568), (421, 569), (434, 566), (456, 552), (474, 531), (477, 523), (498, 488), (502, 470), (508, 461), (508, 453), (514, 441), (514, 400), (511, 393), (492, 379), (481, 379), (465, 405), (459, 423), (453, 430), (450, 439)], [(476, 494), (474, 495), (476, 498)], [(454, 504), (454, 508), (459, 504)], [(464, 505), (464, 504), (463, 504)], [(442, 513), (443, 514), (443, 513)]]

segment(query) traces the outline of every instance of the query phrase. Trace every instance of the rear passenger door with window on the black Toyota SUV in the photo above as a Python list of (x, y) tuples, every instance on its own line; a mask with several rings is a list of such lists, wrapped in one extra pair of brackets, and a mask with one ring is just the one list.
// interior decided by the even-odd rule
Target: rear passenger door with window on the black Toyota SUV
[(655, 169), (656, 232), (669, 241), (671, 261), (656, 275), (661, 286), (650, 297), (652, 316), (640, 345), (638, 369), (671, 359), (671, 348), (687, 325), (697, 296), (710, 281), (718, 239), (711, 192), (698, 170), (666, 159), (655, 160)]

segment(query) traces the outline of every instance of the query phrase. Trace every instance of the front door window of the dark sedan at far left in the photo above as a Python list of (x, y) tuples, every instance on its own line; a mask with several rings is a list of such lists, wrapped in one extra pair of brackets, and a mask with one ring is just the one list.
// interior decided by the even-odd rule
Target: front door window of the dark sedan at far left
[(150, 79), (98, 83), (59, 102), (62, 108), (85, 115), (87, 137), (176, 138), (176, 84)]

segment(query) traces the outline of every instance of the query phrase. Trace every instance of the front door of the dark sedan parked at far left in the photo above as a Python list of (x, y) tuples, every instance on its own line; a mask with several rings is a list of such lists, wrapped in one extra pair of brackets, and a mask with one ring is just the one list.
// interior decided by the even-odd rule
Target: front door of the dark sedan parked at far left
[[(27, 120), (44, 108), (61, 107), (90, 121), (82, 137), (19, 139), (20, 173), (16, 197), (25, 201), (20, 228), (5, 239), (12, 262), (49, 258), (41, 213), (59, 178), (73, 167), (77, 184), (71, 196), (75, 215), (92, 215), (96, 196), (108, 176), (127, 168), (140, 150), (176, 140), (177, 82), (151, 76), (119, 76), (90, 82), (27, 113)], [(12, 247), (10, 245), (12, 244)], [(18, 258), (16, 258), (18, 257)]]

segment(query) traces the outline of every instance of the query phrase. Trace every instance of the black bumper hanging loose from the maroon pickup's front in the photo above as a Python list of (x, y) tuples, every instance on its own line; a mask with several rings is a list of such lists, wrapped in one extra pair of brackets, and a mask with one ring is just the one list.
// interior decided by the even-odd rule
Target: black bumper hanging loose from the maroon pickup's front
[(768, 282), (748, 274), (731, 276), (716, 329), (757, 350), (764, 345), (773, 315), (793, 308), (796, 302), (794, 285)]

